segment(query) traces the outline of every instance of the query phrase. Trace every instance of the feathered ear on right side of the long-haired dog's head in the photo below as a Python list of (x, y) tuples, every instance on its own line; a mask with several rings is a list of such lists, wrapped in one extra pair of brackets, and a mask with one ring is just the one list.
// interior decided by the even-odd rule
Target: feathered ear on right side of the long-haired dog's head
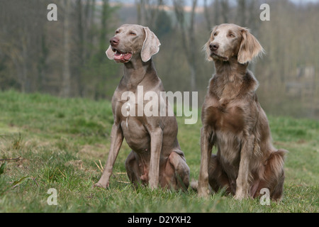
[(254, 38), (246, 28), (242, 29), (242, 42), (240, 43), (240, 49), (237, 55), (237, 61), (240, 64), (245, 64), (264, 53), (264, 48), (258, 42), (257, 38)]

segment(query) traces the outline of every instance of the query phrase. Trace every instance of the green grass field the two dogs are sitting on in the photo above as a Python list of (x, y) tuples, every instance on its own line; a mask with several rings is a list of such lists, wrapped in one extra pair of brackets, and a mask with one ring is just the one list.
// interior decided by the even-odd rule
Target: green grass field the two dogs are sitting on
[[(201, 121), (177, 121), (191, 178), (198, 179)], [(279, 203), (236, 201), (223, 192), (202, 199), (191, 189), (134, 189), (125, 175), (130, 152), (125, 142), (110, 188), (92, 189), (108, 155), (111, 104), (0, 92), (0, 212), (318, 212), (319, 122), (272, 116), (269, 121), (275, 146), (289, 150)], [(56, 206), (47, 204), (50, 188), (56, 189)]]

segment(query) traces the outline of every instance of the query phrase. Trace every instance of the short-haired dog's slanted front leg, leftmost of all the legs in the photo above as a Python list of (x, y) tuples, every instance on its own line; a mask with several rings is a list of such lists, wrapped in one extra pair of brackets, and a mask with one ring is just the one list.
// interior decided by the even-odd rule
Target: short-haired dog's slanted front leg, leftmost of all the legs
[(115, 123), (112, 126), (111, 131), (111, 147), (110, 151), (108, 153), (108, 161), (106, 162), (106, 165), (103, 170), (103, 174), (101, 178), (99, 179), (99, 182), (94, 184), (94, 187), (101, 187), (106, 189), (109, 184), (109, 179), (112, 175), (113, 171), (113, 165), (116, 161), (116, 157), (118, 157), (118, 151), (121, 148), (123, 142), (123, 132), (121, 129), (121, 126), (116, 125)]

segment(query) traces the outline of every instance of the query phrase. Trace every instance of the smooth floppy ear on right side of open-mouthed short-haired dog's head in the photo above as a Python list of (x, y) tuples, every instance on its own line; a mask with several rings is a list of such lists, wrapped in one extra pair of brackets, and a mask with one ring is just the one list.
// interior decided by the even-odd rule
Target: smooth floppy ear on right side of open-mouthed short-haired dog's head
[(143, 27), (143, 29), (145, 31), (145, 40), (140, 52), (140, 57), (143, 62), (147, 62), (151, 59), (152, 55), (159, 52), (159, 46), (161, 43), (159, 43), (157, 36), (150, 31), (150, 28)]

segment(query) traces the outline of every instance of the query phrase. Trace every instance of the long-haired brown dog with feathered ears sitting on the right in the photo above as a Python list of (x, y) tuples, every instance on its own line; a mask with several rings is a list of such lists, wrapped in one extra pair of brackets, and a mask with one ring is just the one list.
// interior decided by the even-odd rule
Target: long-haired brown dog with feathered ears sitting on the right
[[(248, 63), (264, 50), (246, 29), (235, 24), (213, 28), (206, 57), (215, 62), (201, 121), (201, 170), (198, 194), (225, 187), (236, 199), (259, 196), (268, 189), (281, 199), (286, 150), (272, 145), (267, 116), (257, 101), (257, 79)], [(217, 154), (211, 155), (216, 145)], [(263, 192), (263, 191), (262, 191)]]

